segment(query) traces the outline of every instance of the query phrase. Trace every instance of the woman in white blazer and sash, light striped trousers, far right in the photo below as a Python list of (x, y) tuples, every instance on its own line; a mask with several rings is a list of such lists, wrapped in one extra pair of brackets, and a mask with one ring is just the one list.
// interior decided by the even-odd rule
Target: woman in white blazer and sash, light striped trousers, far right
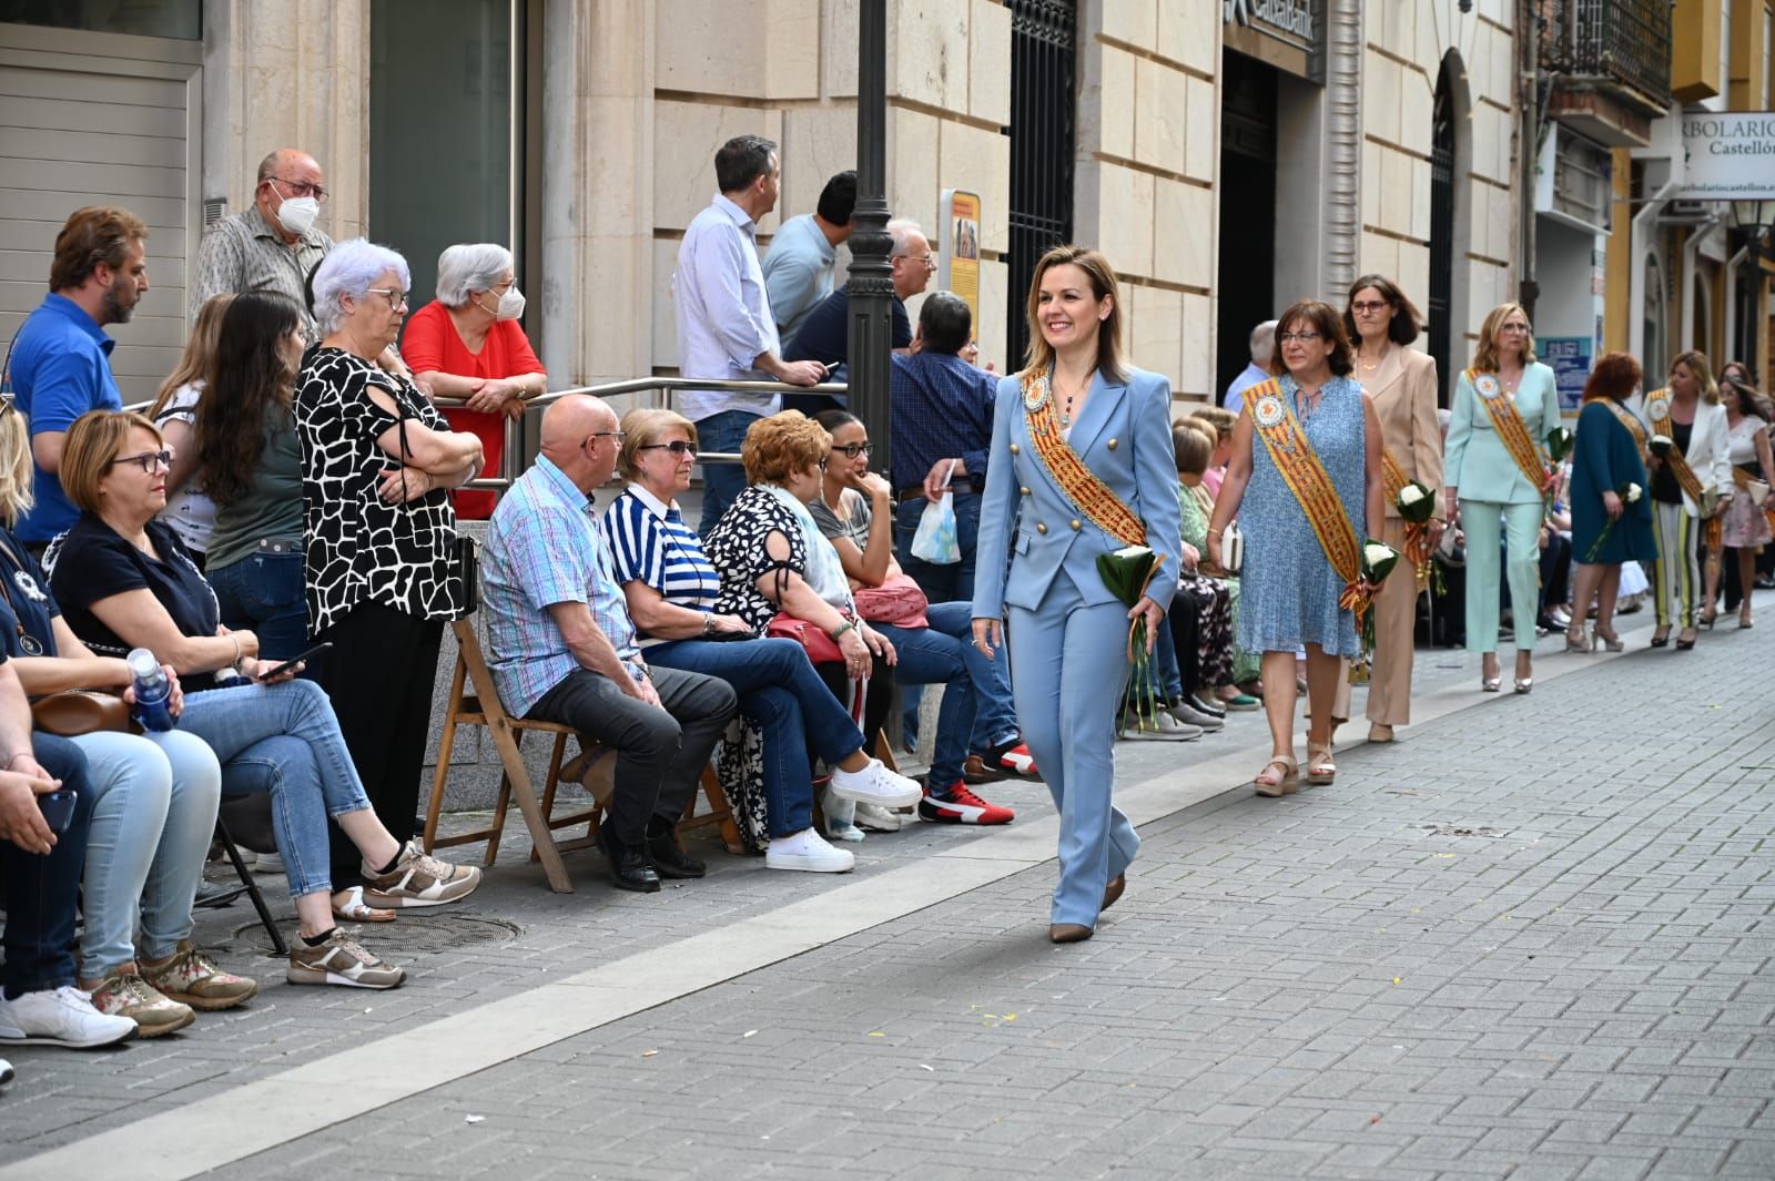
[(1629, 410), (1645, 424), (1647, 438), (1668, 436), (1672, 454), (1679, 452), (1693, 473), (1692, 482), (1674, 458), (1658, 459), (1656, 454), (1647, 465), (1647, 497), (1658, 532), (1658, 560), (1651, 569), (1658, 605), (1653, 647), (1667, 645), (1670, 630), (1681, 628), (1676, 645), (1688, 651), (1695, 647), (1695, 615), (1702, 601), (1699, 541), (1734, 491), (1725, 406), (1708, 358), (1690, 349), (1670, 362), (1663, 388), (1645, 394)]

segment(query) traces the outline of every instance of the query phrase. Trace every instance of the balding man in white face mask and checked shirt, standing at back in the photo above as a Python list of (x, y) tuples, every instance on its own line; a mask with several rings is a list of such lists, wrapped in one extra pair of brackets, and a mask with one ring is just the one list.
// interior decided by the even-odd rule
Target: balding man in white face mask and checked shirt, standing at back
[(332, 238), (314, 229), (327, 202), (327, 177), (304, 151), (279, 147), (259, 161), (252, 207), (217, 222), (197, 246), (188, 317), (213, 294), (268, 289), (302, 309), (302, 330), (314, 339), (305, 280), (332, 250)]

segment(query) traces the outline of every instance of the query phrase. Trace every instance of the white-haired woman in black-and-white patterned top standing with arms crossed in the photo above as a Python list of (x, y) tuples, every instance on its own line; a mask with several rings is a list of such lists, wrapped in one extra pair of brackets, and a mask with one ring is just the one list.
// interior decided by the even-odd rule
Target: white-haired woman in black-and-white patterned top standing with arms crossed
[[(447, 489), (481, 470), (481, 442), (454, 433), (405, 376), (376, 367), (401, 330), (406, 261), (364, 239), (314, 273), (321, 344), (296, 385), (309, 626), (334, 649), (321, 681), (376, 816), (414, 835), (453, 578)], [(357, 872), (334, 833), (334, 880)]]

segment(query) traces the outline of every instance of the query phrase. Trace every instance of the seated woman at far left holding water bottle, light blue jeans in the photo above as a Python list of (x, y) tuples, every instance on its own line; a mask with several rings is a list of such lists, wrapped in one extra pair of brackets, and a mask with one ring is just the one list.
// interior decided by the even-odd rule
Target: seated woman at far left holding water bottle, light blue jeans
[[(122, 660), (75, 638), (44, 587), (37, 560), (11, 534), (30, 507), (30, 442), (11, 403), (0, 404), (0, 637), (30, 697), (67, 688), (130, 686)], [(149, 669), (158, 672), (153, 654)], [(170, 672), (170, 670), (167, 670)], [(183, 708), (167, 679), (163, 715)], [(92, 826), (80, 933), (82, 991), (99, 1013), (131, 1018), (142, 1037), (190, 1025), (193, 1009), (229, 1009), (259, 986), (192, 947), (192, 901), (217, 823), (222, 768), (215, 752), (178, 729), (71, 739), (87, 755)], [(135, 936), (137, 922), (142, 935)]]

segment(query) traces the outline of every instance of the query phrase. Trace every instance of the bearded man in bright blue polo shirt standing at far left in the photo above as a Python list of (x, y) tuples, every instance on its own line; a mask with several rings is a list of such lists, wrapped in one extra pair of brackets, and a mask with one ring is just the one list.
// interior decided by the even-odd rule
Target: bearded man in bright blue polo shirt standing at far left
[(126, 325), (147, 291), (147, 227), (128, 209), (87, 206), (55, 236), (50, 294), (12, 340), (7, 381), (30, 420), (36, 505), (14, 530), (43, 550), (80, 516), (62, 495), (62, 440), (89, 410), (122, 410), (112, 378), (115, 340), (105, 325)]

